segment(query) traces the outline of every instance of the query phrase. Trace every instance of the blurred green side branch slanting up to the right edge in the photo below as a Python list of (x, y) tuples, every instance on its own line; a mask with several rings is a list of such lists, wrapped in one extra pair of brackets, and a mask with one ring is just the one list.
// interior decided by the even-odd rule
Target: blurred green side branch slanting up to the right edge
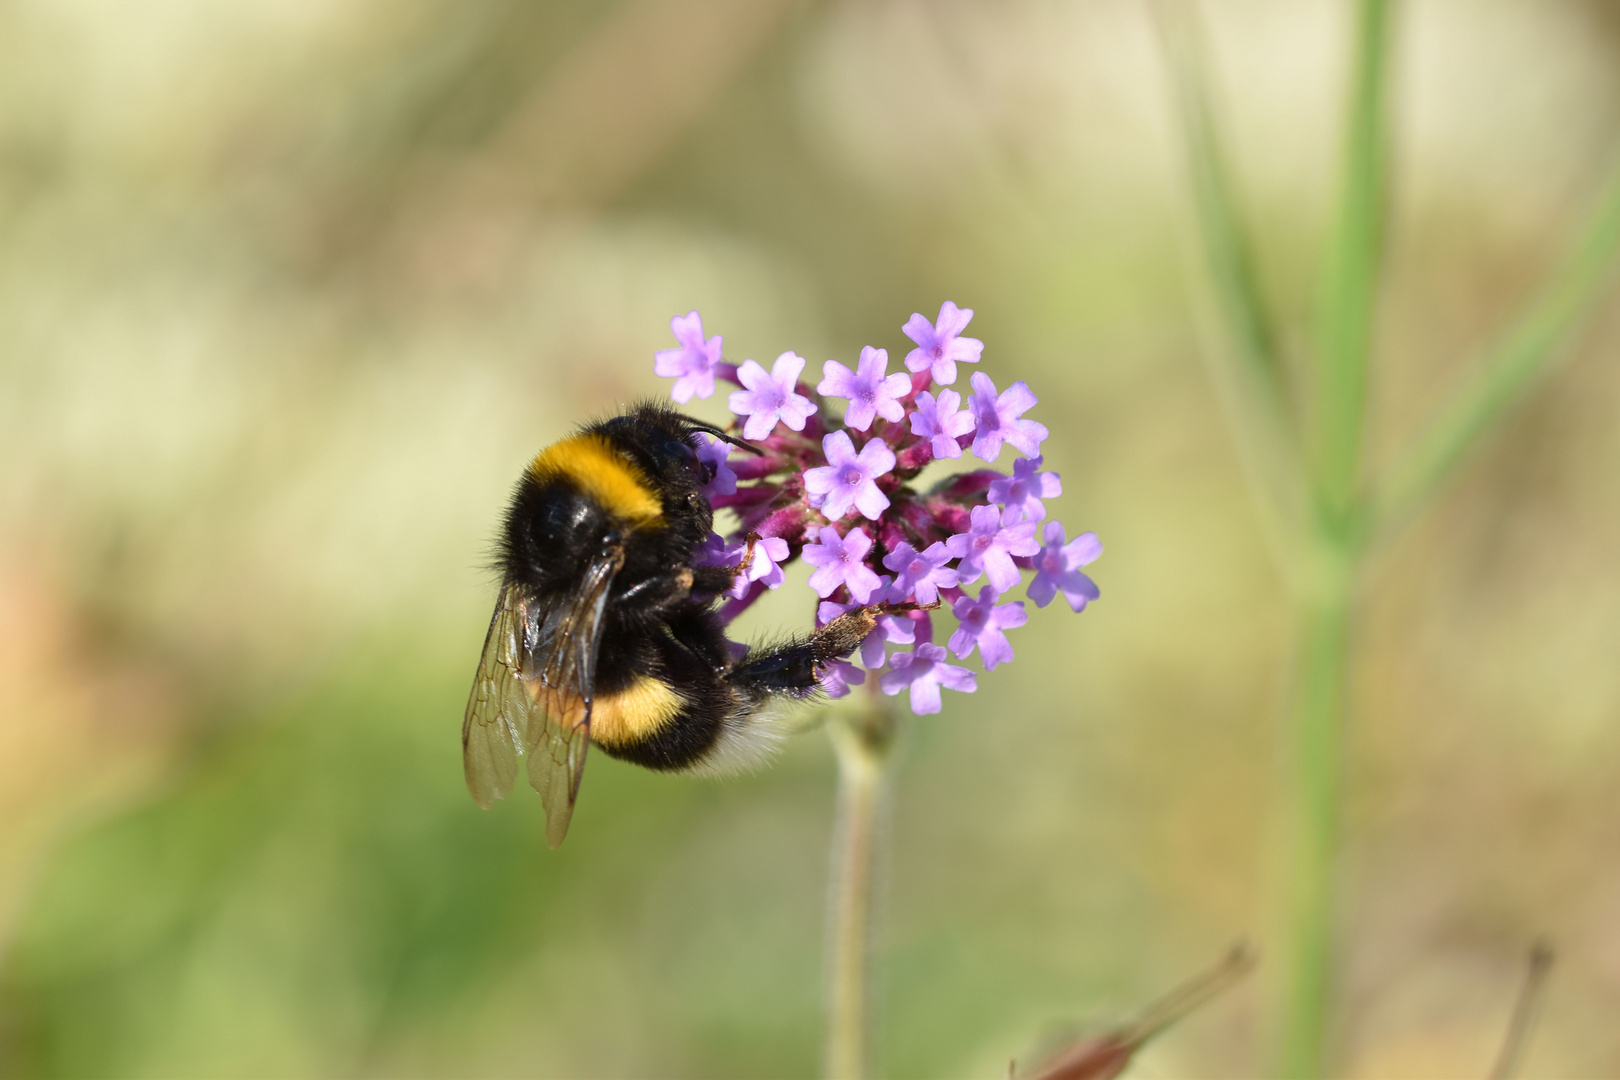
[(1586, 228), (1513, 329), (1486, 353), (1463, 387), (1390, 470), (1377, 520), (1392, 531), (1439, 489), (1458, 460), (1563, 355), (1565, 345), (1610, 282), (1620, 251), (1620, 167)]

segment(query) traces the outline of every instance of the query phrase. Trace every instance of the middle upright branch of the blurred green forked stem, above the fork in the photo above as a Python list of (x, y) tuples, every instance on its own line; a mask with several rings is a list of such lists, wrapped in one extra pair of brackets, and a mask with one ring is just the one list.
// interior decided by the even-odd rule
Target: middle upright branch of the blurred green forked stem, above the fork
[(1343, 525), (1353, 515), (1361, 470), (1367, 355), (1383, 249), (1388, 44), (1388, 0), (1361, 0), (1343, 175), (1322, 279), (1320, 371), (1312, 416), (1317, 495), (1330, 525)]

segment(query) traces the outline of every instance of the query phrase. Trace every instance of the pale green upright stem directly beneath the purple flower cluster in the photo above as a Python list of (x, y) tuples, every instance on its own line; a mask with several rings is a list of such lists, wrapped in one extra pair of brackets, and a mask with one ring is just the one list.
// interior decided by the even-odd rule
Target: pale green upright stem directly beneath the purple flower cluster
[[(872, 678), (875, 683), (876, 677)], [(860, 1080), (872, 1059), (872, 928), (899, 721), (888, 699), (875, 693), (863, 696), (862, 711), (841, 712), (828, 724), (838, 751), (838, 823), (828, 904), (829, 1080)]]

